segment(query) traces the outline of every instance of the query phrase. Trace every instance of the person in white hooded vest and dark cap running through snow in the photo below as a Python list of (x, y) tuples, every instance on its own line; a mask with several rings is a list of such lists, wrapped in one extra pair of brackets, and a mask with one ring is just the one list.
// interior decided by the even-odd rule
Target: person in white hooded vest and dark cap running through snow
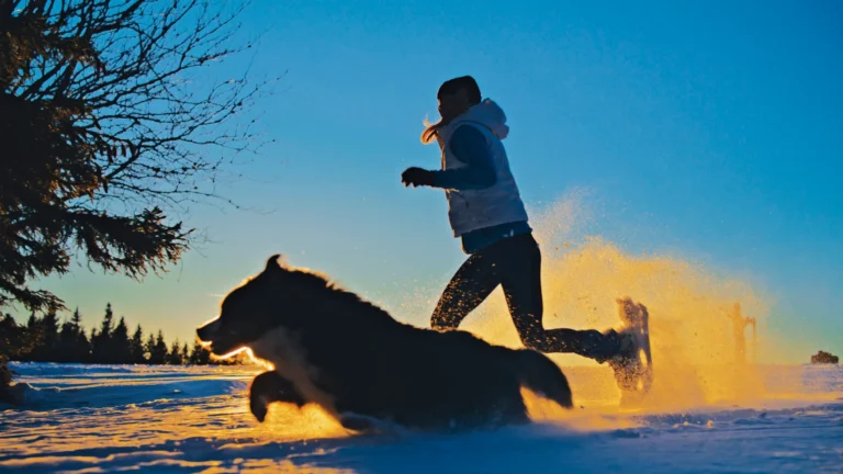
[(437, 99), (441, 120), (425, 129), (422, 142), (438, 142), (441, 170), (408, 168), (401, 180), (406, 187), (445, 190), (453, 235), (469, 258), (445, 289), (431, 327), (459, 327), (502, 285), (525, 347), (609, 361), (616, 372), (625, 368), (637, 352), (629, 335), (542, 325), (541, 251), (502, 143), (509, 132), (504, 111), (490, 99), (481, 100), (469, 76), (445, 82)]

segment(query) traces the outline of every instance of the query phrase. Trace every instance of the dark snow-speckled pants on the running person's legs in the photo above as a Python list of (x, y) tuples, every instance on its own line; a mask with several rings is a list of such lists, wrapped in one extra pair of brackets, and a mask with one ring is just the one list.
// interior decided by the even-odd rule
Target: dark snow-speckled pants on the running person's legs
[(525, 347), (541, 352), (573, 352), (599, 362), (615, 356), (614, 331), (544, 329), (541, 324), (541, 251), (531, 234), (498, 240), (473, 253), (445, 289), (430, 325), (456, 329), (474, 308), (503, 286), (509, 314)]

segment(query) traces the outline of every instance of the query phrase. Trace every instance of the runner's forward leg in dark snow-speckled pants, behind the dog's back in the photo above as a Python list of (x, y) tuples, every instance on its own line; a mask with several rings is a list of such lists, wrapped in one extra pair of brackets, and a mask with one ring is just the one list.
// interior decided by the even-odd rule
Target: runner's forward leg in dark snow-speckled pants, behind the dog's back
[(439, 297), (430, 327), (456, 329), (501, 283), (494, 259), (483, 250), (469, 257)]

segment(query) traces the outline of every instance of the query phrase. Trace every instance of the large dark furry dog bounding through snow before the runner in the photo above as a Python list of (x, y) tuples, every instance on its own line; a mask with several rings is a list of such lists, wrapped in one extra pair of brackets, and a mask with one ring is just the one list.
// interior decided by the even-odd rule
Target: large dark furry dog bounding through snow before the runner
[(278, 256), (196, 334), (217, 356), (249, 347), (274, 365), (252, 382), (260, 421), (284, 402), (318, 404), (352, 430), (372, 419), (424, 430), (524, 422), (521, 387), (572, 406), (567, 380), (543, 354), (398, 323)]

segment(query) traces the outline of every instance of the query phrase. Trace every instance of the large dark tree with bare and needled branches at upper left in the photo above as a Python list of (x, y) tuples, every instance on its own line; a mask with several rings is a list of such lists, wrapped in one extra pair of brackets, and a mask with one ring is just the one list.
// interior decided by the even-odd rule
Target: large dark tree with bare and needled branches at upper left
[(0, 0), (0, 305), (61, 308), (29, 283), (75, 255), (132, 278), (180, 259), (165, 210), (216, 196), (231, 157), (209, 148), (256, 146), (231, 119), (266, 82), (204, 80), (251, 47), (228, 5)]

